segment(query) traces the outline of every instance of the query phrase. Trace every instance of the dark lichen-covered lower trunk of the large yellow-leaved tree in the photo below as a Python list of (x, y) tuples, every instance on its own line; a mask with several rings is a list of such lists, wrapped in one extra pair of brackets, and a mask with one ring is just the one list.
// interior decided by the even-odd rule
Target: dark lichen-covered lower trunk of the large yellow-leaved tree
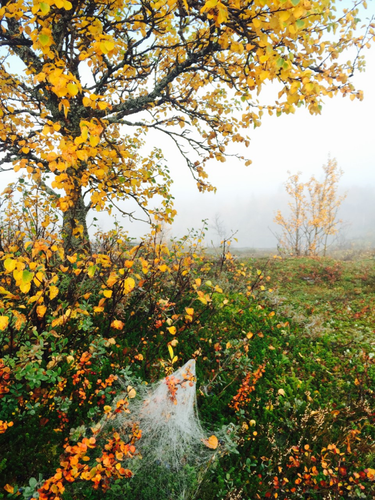
[(90, 240), (86, 224), (87, 208), (79, 189), (75, 192), (73, 202), (74, 204), (63, 214), (62, 234), (65, 252), (90, 251)]

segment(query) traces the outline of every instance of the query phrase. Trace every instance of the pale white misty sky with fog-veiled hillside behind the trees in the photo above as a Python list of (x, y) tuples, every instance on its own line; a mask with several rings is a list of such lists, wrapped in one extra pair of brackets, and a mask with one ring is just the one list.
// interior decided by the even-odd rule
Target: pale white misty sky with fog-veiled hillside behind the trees
[[(342, 6), (338, 3), (338, 8)], [(373, 13), (373, 2), (369, 2), (361, 18), (364, 20)], [(245, 167), (235, 158), (228, 158), (225, 163), (212, 160), (207, 165), (216, 193), (199, 193), (174, 145), (161, 133), (150, 136), (147, 145), (162, 147), (174, 179), (172, 194), (177, 216), (170, 234), (180, 236), (187, 228), (200, 227), (203, 218), (213, 219), (215, 214), (220, 214), (228, 230), (238, 229), (238, 246), (274, 247), (276, 240), (269, 228), (277, 230), (273, 223), (275, 210), (286, 210), (283, 182), (288, 176), (287, 170), (292, 173), (300, 170), (302, 180), (308, 180), (312, 174), (319, 179), (321, 166), (330, 154), (344, 171), (341, 191), (348, 191), (340, 212), (348, 223), (345, 236), (375, 243), (375, 43), (363, 53), (366, 70), (356, 72), (352, 78), (355, 87), (364, 91), (362, 102), (337, 95), (324, 101), (319, 116), (311, 116), (303, 108), (280, 117), (265, 113), (261, 126), (248, 130), (250, 146), (238, 151), (251, 158), (252, 165)], [(273, 104), (277, 92), (277, 84), (268, 83), (259, 95), (261, 103)], [(13, 179), (14, 175), (2, 173), (1, 188)], [(134, 209), (134, 206), (126, 205), (126, 208)], [(92, 216), (103, 229), (108, 229), (113, 221), (106, 213), (95, 212)], [(122, 225), (136, 238), (148, 231), (147, 224), (141, 222), (130, 223), (124, 219)], [(207, 242), (211, 237), (217, 240), (211, 232)]]

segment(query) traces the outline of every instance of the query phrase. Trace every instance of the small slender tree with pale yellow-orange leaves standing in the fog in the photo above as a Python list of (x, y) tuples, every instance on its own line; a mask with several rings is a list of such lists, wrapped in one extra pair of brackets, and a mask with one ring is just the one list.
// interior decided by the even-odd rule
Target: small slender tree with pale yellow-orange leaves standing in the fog
[(274, 221), (281, 226), (276, 233), (278, 247), (292, 255), (326, 254), (342, 222), (337, 218), (338, 209), (346, 197), (338, 194), (338, 183), (343, 174), (335, 158), (328, 158), (323, 165), (323, 179), (312, 176), (300, 181), (300, 174), (290, 174), (285, 182), (289, 195), (288, 217), (277, 210)]

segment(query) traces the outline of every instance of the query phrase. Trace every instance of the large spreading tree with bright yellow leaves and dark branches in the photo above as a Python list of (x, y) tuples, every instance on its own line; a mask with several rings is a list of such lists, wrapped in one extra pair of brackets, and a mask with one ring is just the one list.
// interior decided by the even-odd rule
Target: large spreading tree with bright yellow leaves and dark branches
[[(323, 96), (361, 99), (350, 76), (363, 68), (373, 26), (354, 34), (360, 4), (340, 15), (311, 0), (5, 2), (2, 168), (50, 194), (65, 248), (88, 244), (90, 209), (132, 216), (122, 200), (171, 220), (167, 158), (147, 150), (149, 134), (174, 143), (198, 188), (211, 190), (205, 163), (225, 161), (232, 142), (247, 146), (264, 110), (319, 113)], [(346, 49), (357, 53), (352, 62), (341, 60)], [(259, 105), (269, 81), (278, 83), (277, 100)], [(154, 196), (157, 210), (148, 204)]]

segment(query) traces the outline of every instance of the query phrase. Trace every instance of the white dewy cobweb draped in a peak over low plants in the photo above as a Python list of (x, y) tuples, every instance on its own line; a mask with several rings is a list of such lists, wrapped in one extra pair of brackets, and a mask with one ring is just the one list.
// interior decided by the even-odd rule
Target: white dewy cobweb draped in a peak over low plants
[(126, 464), (134, 472), (134, 498), (193, 498), (210, 464), (227, 451), (229, 431), (209, 435), (200, 424), (195, 381), (195, 360), (190, 359), (162, 380), (136, 387), (130, 412), (112, 422), (122, 436), (134, 423), (141, 429), (139, 460)]

